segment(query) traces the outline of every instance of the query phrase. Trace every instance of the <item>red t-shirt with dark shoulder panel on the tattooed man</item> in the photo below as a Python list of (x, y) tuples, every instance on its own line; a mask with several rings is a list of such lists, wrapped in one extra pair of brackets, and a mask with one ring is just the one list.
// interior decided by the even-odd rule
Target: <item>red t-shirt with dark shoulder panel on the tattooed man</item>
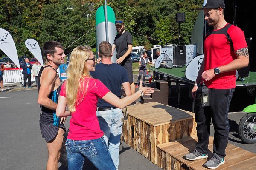
[[(204, 41), (204, 71), (227, 65), (237, 58), (236, 50), (247, 47), (244, 32), (234, 25), (231, 25), (227, 31), (224, 31), (226, 26), (212, 31)], [(224, 34), (225, 32), (230, 35), (233, 45), (230, 44), (230, 41)], [(221, 73), (215, 75), (210, 81), (204, 81), (204, 83), (209, 88), (235, 88), (235, 75), (236, 71)]]

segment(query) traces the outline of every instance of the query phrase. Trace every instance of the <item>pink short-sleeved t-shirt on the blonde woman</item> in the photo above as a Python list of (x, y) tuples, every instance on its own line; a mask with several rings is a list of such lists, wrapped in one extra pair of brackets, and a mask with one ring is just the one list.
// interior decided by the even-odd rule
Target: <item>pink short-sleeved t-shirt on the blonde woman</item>
[[(84, 99), (76, 106), (76, 111), (71, 113), (72, 117), (70, 119), (70, 131), (67, 137), (71, 140), (93, 140), (104, 135), (103, 131), (100, 130), (99, 127), (96, 109), (98, 98), (101, 99), (109, 92), (109, 90), (98, 79), (93, 79), (90, 77), (84, 77), (84, 79), (84, 87), (86, 88), (88, 81), (89, 84)], [(79, 94), (77, 95), (78, 97), (80, 96)], [(65, 82), (61, 87), (60, 95), (66, 97)]]

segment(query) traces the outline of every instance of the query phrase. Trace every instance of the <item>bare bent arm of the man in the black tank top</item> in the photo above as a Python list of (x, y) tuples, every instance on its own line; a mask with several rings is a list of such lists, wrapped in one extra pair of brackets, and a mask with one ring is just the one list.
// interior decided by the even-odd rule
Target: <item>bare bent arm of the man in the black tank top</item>
[[(45, 68), (47, 69), (47, 68)], [(57, 103), (53, 102), (48, 98), (50, 93), (54, 90), (55, 80), (57, 79), (56, 72), (49, 68), (44, 70), (43, 77), (40, 77), (40, 90), (38, 93), (38, 104), (49, 108), (51, 110), (56, 110)], [(43, 80), (43, 81), (41, 81)]]

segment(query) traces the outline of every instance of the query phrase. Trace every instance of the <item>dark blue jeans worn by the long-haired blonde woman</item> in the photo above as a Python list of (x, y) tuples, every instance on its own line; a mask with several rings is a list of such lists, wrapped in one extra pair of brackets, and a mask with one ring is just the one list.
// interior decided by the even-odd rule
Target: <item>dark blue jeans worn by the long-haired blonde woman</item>
[(82, 170), (85, 157), (99, 170), (116, 169), (103, 137), (87, 141), (67, 139), (66, 149), (69, 170)]

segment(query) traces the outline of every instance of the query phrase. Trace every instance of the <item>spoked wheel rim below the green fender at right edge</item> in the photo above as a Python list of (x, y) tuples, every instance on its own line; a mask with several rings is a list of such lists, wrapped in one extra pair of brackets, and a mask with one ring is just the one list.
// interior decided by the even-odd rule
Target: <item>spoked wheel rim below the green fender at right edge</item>
[(244, 122), (244, 137), (248, 140), (256, 139), (256, 116), (250, 116)]

